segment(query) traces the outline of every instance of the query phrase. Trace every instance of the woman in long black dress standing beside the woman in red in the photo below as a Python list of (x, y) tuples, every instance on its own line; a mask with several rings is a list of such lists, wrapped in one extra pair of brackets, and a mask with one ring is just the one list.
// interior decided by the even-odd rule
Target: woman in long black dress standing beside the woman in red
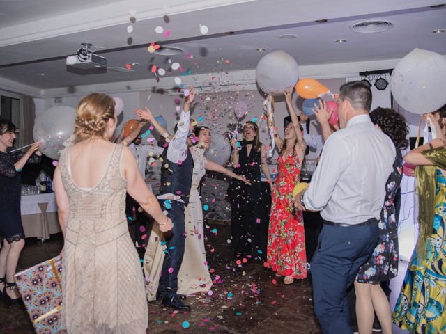
[(231, 180), (226, 192), (226, 200), (231, 203), (231, 238), (232, 249), (236, 256), (266, 256), (268, 239), (268, 220), (265, 219), (261, 205), (263, 191), (261, 173), (266, 175), (272, 185), (266, 155), (259, 141), (259, 127), (248, 121), (243, 126), (243, 141), (231, 141), (233, 147), (232, 166), (234, 173), (244, 175), (252, 183), (251, 186), (236, 179)]

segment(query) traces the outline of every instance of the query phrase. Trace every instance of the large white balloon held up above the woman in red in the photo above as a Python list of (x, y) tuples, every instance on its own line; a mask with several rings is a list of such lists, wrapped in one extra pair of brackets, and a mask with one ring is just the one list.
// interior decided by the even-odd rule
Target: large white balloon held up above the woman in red
[(266, 54), (257, 64), (256, 81), (267, 94), (282, 95), (286, 88), (294, 87), (298, 79), (298, 63), (284, 51)]

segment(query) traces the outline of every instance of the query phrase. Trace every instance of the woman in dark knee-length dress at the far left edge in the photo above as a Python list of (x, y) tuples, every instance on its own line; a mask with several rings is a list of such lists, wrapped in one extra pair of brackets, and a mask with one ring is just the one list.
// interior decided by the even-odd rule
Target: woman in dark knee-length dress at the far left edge
[(15, 140), (15, 129), (12, 122), (0, 119), (0, 235), (3, 237), (0, 250), (0, 297), (9, 301), (20, 301), (13, 275), (25, 244), (20, 214), (20, 172), (26, 162), (40, 162), (42, 155), (38, 152), (40, 142), (32, 145), (26, 153), (9, 153)]

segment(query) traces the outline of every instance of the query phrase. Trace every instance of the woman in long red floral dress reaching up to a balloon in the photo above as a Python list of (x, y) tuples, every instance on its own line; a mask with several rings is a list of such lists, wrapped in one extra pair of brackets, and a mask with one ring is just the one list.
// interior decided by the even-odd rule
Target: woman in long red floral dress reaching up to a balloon
[(275, 143), (279, 148), (278, 175), (272, 188), (270, 227), (268, 230), (268, 250), (265, 267), (285, 276), (284, 283), (293, 283), (294, 278), (306, 278), (305, 232), (302, 212), (293, 207), (293, 188), (300, 182), (300, 161), (305, 144), (302, 129), (293, 104), (292, 88), (285, 93), (291, 122), (285, 124), (284, 138), (280, 138), (274, 124)]

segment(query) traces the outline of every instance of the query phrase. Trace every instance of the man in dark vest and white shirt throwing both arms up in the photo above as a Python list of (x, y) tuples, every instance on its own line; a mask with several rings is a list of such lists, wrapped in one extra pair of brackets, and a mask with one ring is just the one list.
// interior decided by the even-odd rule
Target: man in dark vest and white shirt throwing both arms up
[(177, 291), (178, 271), (180, 271), (185, 249), (184, 211), (189, 202), (194, 168), (192, 153), (187, 148), (187, 138), (190, 135), (190, 104), (197, 93), (196, 89), (192, 89), (186, 97), (174, 136), (169, 136), (164, 127), (160, 127), (159, 123), (154, 121), (148, 109), (134, 111), (140, 118), (151, 120), (153, 126), (158, 131), (161, 130), (160, 134), (170, 140), (169, 146), (164, 149), (160, 157), (161, 185), (157, 198), (162, 209), (174, 223), (174, 228), (169, 234), (164, 234), (167, 253), (162, 264), (157, 299), (161, 299), (164, 306), (182, 311), (190, 310), (190, 305), (181, 301)]

